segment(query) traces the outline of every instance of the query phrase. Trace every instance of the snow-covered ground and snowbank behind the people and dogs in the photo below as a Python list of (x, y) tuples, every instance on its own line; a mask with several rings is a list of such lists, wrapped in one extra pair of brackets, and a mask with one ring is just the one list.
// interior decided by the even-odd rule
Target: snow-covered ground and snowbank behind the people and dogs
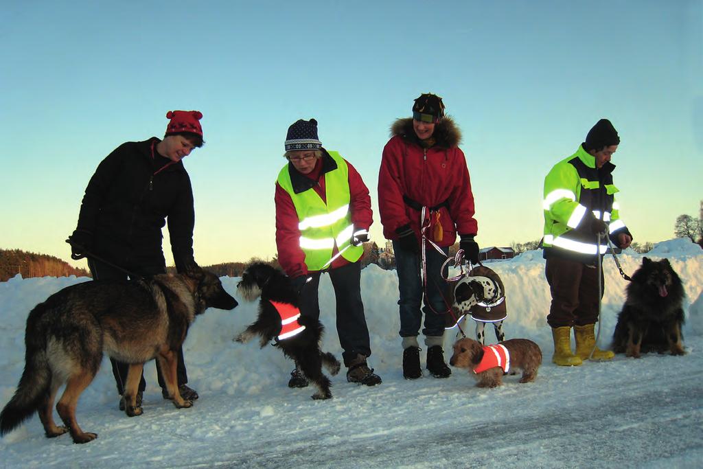
[[(200, 399), (176, 409), (162, 399), (153, 364), (145, 367), (142, 416), (127, 417), (107, 359), (82, 394), (77, 419), (97, 432), (88, 444), (69, 435), (46, 439), (33, 416), (0, 440), (2, 467), (76, 468), (699, 468), (703, 465), (703, 252), (688, 240), (657, 244), (647, 257), (668, 257), (683, 278), (685, 356), (617, 355), (612, 362), (568, 368), (551, 363), (546, 313), (550, 302), (541, 251), (488, 264), (503, 279), (507, 338), (529, 338), (544, 360), (534, 383), (506, 376), (503, 386), (479, 389), (453, 368), (448, 379), (404, 380), (398, 336), (397, 277), (371, 265), (361, 276), (371, 335), (375, 387), (332, 378), (333, 399), (311, 399), (311, 387), (287, 387), (292, 363), (277, 349), (232, 338), (255, 316), (255, 304), (236, 295), (238, 278), (222, 278), (240, 302), (233, 311), (199, 316), (184, 345), (191, 387)], [(643, 255), (619, 259), (632, 274)], [(624, 300), (626, 281), (605, 257), (600, 346), (607, 347)], [(67, 285), (86, 278), (27, 278), (0, 283), (0, 405), (11, 398), (24, 366), (27, 313)], [(334, 295), (328, 276), (320, 289), (323, 349), (341, 358)], [(464, 328), (473, 336), (474, 324)], [(445, 336), (446, 358), (456, 329)], [(486, 328), (486, 342), (495, 340)], [(422, 340), (420, 340), (422, 342)], [(421, 352), (423, 366), (425, 352)], [(58, 416), (56, 416), (58, 418)]]

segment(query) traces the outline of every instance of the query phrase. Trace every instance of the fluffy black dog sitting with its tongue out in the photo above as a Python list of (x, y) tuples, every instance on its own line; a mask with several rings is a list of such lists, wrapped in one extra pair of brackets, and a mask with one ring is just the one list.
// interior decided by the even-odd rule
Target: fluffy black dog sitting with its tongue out
[(642, 259), (627, 285), (627, 298), (618, 315), (612, 348), (616, 353), (683, 355), (683, 284), (669, 259)]

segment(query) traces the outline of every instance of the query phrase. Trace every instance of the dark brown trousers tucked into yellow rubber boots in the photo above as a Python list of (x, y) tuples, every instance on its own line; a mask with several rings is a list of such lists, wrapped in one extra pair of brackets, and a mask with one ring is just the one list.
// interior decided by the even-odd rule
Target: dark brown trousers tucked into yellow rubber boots
[[(598, 321), (598, 269), (595, 265), (550, 257), (545, 274), (552, 294), (547, 316), (549, 326), (585, 326)], [(600, 282), (604, 285), (602, 271)]]

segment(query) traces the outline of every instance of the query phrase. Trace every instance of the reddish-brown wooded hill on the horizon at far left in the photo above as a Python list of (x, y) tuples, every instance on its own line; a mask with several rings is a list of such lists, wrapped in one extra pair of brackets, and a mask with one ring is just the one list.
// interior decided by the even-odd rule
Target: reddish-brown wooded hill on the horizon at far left
[(0, 281), (6, 282), (17, 274), (22, 278), (90, 276), (86, 269), (77, 269), (58, 257), (19, 249), (0, 249)]

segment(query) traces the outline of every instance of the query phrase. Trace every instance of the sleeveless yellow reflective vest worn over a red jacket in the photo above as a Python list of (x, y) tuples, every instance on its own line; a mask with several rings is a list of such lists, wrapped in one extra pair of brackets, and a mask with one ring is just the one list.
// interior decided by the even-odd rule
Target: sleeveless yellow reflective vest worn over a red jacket
[(333, 256), (335, 245), (342, 257), (356, 262), (363, 255), (363, 247), (350, 245), (354, 234), (352, 214), (349, 210), (349, 168), (342, 156), (329, 151), (336, 168), (325, 172), (325, 198), (323, 201), (314, 188), (296, 193), (288, 165), (278, 174), (278, 184), (286, 191), (295, 205), (300, 231), (300, 248), (305, 254), (309, 271), (326, 268)]

